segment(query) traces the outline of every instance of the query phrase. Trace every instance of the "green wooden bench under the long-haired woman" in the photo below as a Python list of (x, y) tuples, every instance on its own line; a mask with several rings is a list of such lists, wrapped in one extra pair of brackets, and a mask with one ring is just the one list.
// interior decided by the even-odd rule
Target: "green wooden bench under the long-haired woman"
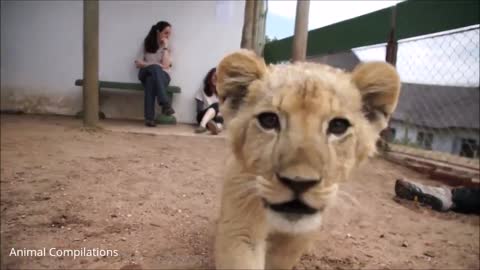
[[(75, 81), (76, 86), (83, 86), (83, 80), (79, 79)], [(104, 98), (102, 98), (101, 90), (102, 89), (116, 89), (120, 91), (144, 91), (143, 85), (141, 83), (130, 83), (130, 82), (112, 82), (112, 81), (99, 81), (98, 82), (98, 105), (99, 107), (102, 106)], [(173, 95), (181, 93), (181, 89), (178, 86), (168, 86), (167, 88), (167, 95), (170, 100), (173, 99)], [(77, 113), (77, 117), (83, 117), (83, 111)], [(99, 112), (100, 119), (105, 119), (106, 115), (102, 111)], [(156, 122), (159, 124), (176, 124), (177, 119), (175, 116), (159, 114), (156, 117)]]

